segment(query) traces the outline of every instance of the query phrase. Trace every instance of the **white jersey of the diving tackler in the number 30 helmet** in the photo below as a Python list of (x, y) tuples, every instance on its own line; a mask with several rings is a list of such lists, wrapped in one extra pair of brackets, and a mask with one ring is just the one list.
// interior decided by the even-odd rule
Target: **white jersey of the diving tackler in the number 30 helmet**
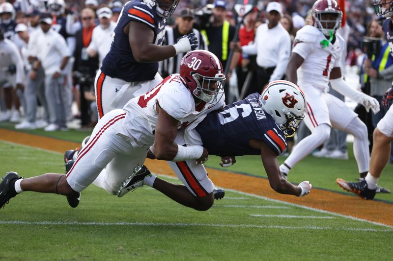
[[(178, 129), (200, 122), (207, 113), (221, 109), (225, 98), (216, 104), (203, 102), (195, 105), (190, 90), (183, 84), (179, 74), (165, 78), (157, 87), (144, 95), (131, 99), (123, 109), (127, 112), (125, 129), (139, 145), (152, 145), (158, 113), (157, 103), (171, 117), (177, 119)], [(200, 108), (199, 108), (200, 107)]]

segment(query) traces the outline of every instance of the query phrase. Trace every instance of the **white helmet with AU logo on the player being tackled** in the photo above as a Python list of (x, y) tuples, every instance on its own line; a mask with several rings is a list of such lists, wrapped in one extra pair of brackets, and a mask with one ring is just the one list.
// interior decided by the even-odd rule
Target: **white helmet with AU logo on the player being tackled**
[(259, 103), (286, 137), (295, 135), (306, 108), (306, 98), (296, 84), (284, 80), (270, 82), (259, 96)]

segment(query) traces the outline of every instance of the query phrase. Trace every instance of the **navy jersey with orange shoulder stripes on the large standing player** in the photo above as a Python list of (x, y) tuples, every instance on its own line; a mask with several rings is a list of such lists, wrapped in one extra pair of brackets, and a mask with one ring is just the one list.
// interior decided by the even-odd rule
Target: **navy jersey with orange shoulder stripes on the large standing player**
[(154, 32), (153, 44), (162, 44), (165, 35), (165, 19), (156, 13), (155, 7), (143, 0), (129, 1), (121, 10), (114, 29), (111, 50), (102, 62), (101, 71), (112, 78), (127, 82), (152, 80), (157, 73), (158, 62), (138, 63), (135, 60), (128, 35), (123, 31), (124, 26), (131, 21), (148, 25)]

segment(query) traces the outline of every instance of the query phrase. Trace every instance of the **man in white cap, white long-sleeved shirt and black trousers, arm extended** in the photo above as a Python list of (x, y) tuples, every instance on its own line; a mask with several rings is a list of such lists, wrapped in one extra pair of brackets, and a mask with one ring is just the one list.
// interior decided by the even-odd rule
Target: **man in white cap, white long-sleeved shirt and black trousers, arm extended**
[(270, 2), (266, 11), (269, 23), (258, 26), (252, 45), (241, 47), (245, 54), (256, 54), (259, 91), (267, 83), (283, 78), (291, 53), (291, 37), (280, 24), (281, 3)]

